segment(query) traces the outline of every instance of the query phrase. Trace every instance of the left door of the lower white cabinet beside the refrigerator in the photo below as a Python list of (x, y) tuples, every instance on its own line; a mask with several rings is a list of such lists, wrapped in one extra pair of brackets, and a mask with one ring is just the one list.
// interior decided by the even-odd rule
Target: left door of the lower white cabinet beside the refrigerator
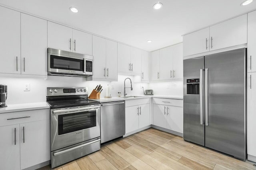
[(154, 104), (153, 119), (154, 125), (166, 128), (167, 106)]

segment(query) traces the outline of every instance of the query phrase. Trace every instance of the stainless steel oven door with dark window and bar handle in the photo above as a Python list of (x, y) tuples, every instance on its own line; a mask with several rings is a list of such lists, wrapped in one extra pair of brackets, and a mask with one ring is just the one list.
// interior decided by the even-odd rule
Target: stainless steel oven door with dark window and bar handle
[(100, 137), (100, 105), (51, 109), (51, 151)]

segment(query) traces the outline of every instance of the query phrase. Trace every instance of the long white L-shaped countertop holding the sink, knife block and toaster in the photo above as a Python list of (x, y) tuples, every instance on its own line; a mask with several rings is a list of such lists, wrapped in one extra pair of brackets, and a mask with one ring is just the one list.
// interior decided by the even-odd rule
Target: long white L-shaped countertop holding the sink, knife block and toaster
[(143, 99), (143, 98), (165, 98), (165, 99), (176, 99), (176, 100), (183, 100), (183, 96), (170, 96), (170, 95), (138, 95), (140, 97), (136, 98), (122, 98), (122, 97), (112, 97), (112, 98), (100, 98), (100, 99), (90, 99), (100, 103), (106, 102), (117, 102), (123, 100), (136, 100), (136, 99)]

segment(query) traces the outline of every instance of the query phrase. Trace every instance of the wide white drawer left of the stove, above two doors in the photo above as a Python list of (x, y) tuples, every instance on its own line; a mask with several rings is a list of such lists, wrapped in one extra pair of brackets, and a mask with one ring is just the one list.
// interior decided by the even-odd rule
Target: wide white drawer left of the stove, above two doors
[(50, 109), (1, 113), (0, 127), (46, 119), (50, 119)]

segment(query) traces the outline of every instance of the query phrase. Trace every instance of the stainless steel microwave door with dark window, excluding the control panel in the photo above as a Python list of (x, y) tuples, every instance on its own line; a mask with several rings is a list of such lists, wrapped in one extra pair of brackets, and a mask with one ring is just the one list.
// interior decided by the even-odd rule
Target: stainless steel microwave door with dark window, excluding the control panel
[(48, 53), (48, 72), (85, 75), (85, 59)]

